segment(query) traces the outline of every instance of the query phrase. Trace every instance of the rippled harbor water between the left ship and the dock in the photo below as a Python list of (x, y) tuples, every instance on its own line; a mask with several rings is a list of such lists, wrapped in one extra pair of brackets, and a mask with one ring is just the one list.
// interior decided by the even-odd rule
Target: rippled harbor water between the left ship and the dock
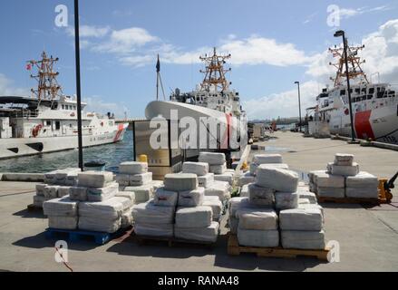
[[(132, 131), (126, 131), (121, 142), (83, 149), (83, 160), (102, 160), (106, 169), (115, 171), (123, 161), (132, 160)], [(46, 153), (0, 160), (0, 172), (44, 173), (55, 169), (78, 167), (78, 150)]]

